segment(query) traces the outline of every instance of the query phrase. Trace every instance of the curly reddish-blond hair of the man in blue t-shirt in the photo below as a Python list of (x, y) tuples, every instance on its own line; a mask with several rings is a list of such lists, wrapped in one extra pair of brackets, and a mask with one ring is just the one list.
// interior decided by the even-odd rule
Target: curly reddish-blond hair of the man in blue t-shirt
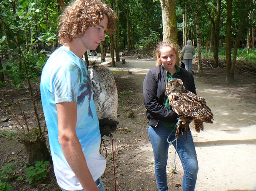
[(116, 15), (109, 5), (100, 0), (76, 0), (64, 10), (58, 24), (59, 44), (71, 42), (75, 38), (83, 37), (89, 27), (97, 27), (104, 16), (108, 18), (109, 34), (114, 31)]

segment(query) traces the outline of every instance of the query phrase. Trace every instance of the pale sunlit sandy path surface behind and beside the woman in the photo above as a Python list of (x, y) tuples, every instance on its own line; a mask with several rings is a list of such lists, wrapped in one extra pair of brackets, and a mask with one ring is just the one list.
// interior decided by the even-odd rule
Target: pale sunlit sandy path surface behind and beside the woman
[[(147, 71), (155, 66), (155, 61), (152, 60), (126, 62), (123, 68), (140, 76), (141, 82), (138, 84), (142, 84)], [(197, 94), (206, 99), (207, 105), (214, 113), (214, 123), (205, 123), (204, 131), (197, 133), (192, 129), (199, 163), (195, 190), (256, 190), (255, 100), (248, 102), (248, 99), (244, 100), (243, 96), (236, 95), (235, 91), (229, 91), (229, 88), (206, 84), (197, 74), (194, 78)], [(252, 79), (253, 83), (255, 79)], [(246, 91), (247, 86), (241, 88)], [(252, 99), (254, 98), (255, 96)], [(150, 151), (147, 152), (150, 153), (148, 157), (154, 160), (150, 142), (145, 148)], [(168, 158), (172, 162), (174, 153), (175, 149), (170, 147)], [(177, 170), (181, 171), (179, 159), (176, 160), (176, 165)]]

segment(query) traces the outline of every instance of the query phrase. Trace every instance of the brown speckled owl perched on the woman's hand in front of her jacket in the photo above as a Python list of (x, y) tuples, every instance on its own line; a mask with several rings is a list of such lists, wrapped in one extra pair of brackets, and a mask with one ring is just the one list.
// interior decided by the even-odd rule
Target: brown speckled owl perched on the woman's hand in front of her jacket
[(213, 113), (205, 99), (186, 90), (180, 79), (172, 79), (167, 83), (166, 95), (175, 113), (194, 120), (197, 132), (203, 130), (203, 122), (213, 123)]

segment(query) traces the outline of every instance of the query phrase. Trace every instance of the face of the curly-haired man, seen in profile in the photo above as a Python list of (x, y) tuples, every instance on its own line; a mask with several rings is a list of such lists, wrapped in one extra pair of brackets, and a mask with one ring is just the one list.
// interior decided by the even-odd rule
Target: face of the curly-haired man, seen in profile
[(97, 27), (89, 27), (82, 37), (82, 42), (87, 50), (96, 50), (101, 41), (105, 40), (108, 18), (105, 16)]

